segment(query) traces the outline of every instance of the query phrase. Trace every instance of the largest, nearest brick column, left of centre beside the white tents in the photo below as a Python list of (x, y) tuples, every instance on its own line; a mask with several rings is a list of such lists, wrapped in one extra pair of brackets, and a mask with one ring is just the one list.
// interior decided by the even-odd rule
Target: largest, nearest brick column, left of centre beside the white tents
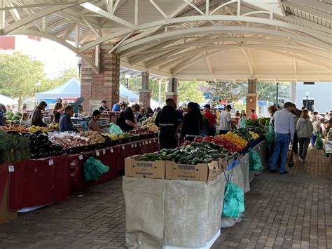
[[(82, 62), (81, 97), (84, 97), (84, 112), (89, 112), (90, 101), (106, 100), (108, 107), (119, 101), (120, 55), (109, 54), (111, 48), (108, 44), (102, 44), (99, 50), (99, 74), (96, 74), (88, 63)], [(83, 53), (95, 62), (95, 49)]]

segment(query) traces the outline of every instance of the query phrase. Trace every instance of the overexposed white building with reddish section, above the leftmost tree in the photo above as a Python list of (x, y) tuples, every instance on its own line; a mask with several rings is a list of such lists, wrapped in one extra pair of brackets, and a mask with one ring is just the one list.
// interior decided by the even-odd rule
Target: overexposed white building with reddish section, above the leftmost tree
[(48, 78), (57, 77), (66, 69), (77, 69), (76, 54), (55, 41), (39, 36), (0, 36), (0, 53), (20, 51), (44, 64)]

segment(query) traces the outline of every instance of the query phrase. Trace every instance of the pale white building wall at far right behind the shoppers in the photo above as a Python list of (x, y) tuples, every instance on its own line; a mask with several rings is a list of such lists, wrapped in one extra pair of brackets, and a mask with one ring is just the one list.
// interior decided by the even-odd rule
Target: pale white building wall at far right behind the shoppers
[(314, 111), (325, 113), (332, 110), (332, 82), (315, 82), (314, 85), (296, 84), (296, 107), (303, 107), (305, 92), (309, 92), (308, 100), (314, 100)]

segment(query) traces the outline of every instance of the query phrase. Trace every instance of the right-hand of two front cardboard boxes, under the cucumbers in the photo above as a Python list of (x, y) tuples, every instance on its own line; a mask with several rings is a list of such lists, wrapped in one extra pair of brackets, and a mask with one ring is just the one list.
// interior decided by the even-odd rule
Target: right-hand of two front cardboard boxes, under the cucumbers
[(166, 179), (211, 182), (221, 174), (221, 161), (198, 163), (197, 165), (178, 164), (166, 161)]

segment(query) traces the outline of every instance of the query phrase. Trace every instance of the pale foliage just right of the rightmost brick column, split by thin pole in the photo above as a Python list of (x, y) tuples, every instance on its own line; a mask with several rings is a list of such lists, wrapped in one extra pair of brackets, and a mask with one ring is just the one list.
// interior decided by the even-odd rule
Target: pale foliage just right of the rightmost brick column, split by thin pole
[[(275, 102), (277, 95), (277, 86), (274, 82), (258, 82), (257, 83), (258, 100)], [(291, 99), (291, 83), (279, 83), (279, 99)]]

